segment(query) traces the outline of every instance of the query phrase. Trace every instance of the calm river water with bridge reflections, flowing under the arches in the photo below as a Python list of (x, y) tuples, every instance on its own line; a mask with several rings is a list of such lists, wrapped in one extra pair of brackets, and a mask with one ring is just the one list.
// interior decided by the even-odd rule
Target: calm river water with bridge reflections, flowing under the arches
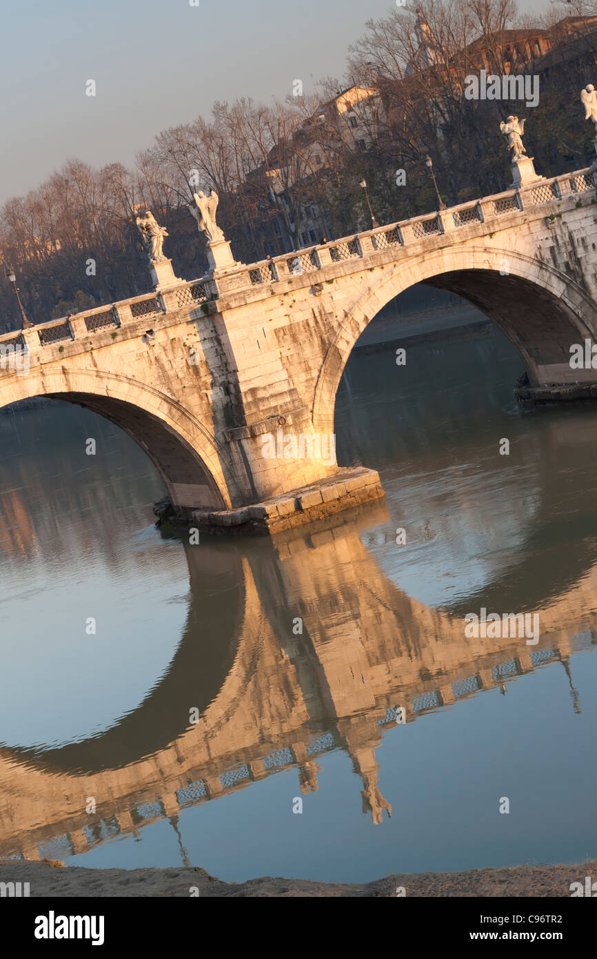
[[(274, 542), (157, 530), (156, 471), (89, 411), (2, 414), (0, 856), (239, 881), (597, 856), (597, 410), (521, 411), (520, 372), (493, 330), (356, 350), (338, 461), (385, 503)], [(482, 608), (538, 642), (466, 636)]]

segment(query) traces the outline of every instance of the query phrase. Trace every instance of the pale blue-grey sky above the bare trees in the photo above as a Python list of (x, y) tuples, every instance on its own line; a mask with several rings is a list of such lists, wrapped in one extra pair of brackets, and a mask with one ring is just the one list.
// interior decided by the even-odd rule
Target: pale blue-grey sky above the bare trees
[(309, 93), (324, 76), (341, 79), (366, 20), (393, 9), (395, 0), (3, 0), (0, 202), (69, 157), (132, 165), (160, 130), (208, 116), (216, 100), (267, 102), (295, 80)]

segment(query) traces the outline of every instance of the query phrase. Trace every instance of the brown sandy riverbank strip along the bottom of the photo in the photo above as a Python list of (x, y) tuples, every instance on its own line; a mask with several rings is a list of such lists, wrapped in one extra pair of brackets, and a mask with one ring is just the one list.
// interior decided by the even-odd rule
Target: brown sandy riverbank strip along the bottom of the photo
[(404, 887), (411, 897), (570, 896), (570, 883), (597, 878), (597, 861), (578, 866), (516, 866), (473, 869), (466, 873), (417, 873), (387, 876), (374, 882), (343, 885), (306, 879), (264, 877), (222, 882), (203, 869), (57, 868), (45, 862), (0, 861), (0, 882), (29, 882), (31, 898), (44, 897), (396, 897)]

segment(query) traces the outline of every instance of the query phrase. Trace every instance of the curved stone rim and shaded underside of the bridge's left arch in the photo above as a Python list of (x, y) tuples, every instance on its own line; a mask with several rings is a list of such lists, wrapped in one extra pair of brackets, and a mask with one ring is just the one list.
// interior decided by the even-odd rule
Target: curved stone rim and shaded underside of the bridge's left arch
[(175, 505), (230, 507), (214, 437), (188, 409), (153, 386), (117, 373), (64, 367), (11, 377), (3, 386), (0, 407), (47, 396), (116, 423), (155, 464)]

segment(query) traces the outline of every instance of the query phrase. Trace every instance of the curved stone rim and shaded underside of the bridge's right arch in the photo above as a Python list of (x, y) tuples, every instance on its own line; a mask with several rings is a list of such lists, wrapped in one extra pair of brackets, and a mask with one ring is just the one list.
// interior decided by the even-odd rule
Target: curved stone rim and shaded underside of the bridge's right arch
[[(500, 276), (505, 269), (508, 275)], [(315, 387), (316, 433), (333, 433), (336, 390), (365, 327), (395, 296), (422, 282), (455, 292), (490, 316), (517, 346), (534, 385), (540, 367), (568, 363), (570, 344), (597, 330), (597, 308), (586, 292), (540, 260), (482, 246), (413, 257), (365, 292), (337, 330)]]

